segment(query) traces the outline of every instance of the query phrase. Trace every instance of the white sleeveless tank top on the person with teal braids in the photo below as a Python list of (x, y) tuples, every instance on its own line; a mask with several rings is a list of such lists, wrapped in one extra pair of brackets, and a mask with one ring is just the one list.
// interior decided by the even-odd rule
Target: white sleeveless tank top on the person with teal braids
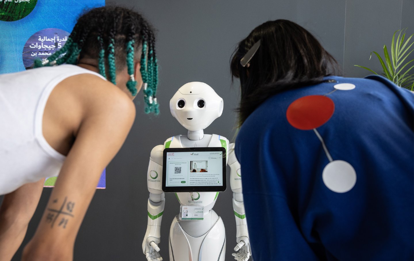
[(75, 65), (0, 75), (0, 195), (59, 174), (65, 156), (43, 137), (43, 111), (59, 82), (83, 73), (105, 79)]

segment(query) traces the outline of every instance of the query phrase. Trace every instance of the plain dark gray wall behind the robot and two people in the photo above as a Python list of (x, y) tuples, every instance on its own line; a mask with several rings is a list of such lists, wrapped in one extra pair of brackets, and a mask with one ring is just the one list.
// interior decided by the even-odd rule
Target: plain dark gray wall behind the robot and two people
[[(414, 31), (412, 0), (118, 0), (141, 11), (158, 29), (159, 116), (143, 113), (142, 94), (136, 99), (137, 118), (123, 148), (107, 168), (107, 189), (97, 190), (75, 244), (75, 260), (145, 260), (141, 244), (147, 224), (146, 172), (149, 153), (172, 135), (186, 130), (171, 116), (169, 99), (186, 82), (201, 81), (224, 99), (224, 112), (205, 133), (234, 136), (238, 82), (232, 86), (229, 58), (238, 41), (270, 19), (290, 19), (311, 31), (343, 67), (344, 76), (380, 72), (371, 51), (390, 45), (395, 30)], [(44, 189), (24, 242), (36, 229), (51, 189)], [(230, 189), (220, 193), (214, 210), (226, 226), (226, 259), (233, 260), (235, 220)], [(168, 231), (179, 211), (173, 194), (166, 194), (161, 254), (168, 260)], [(21, 249), (13, 260), (20, 259)]]

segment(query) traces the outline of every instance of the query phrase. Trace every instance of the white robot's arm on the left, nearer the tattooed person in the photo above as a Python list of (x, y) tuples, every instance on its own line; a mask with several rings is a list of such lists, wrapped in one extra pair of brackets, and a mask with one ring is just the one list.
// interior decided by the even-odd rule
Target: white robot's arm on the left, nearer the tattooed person
[(151, 151), (147, 172), (148, 223), (142, 242), (142, 251), (148, 261), (161, 261), (158, 244), (160, 243), (160, 230), (162, 214), (164, 213), (165, 197), (162, 191), (162, 153), (164, 146), (158, 145)]

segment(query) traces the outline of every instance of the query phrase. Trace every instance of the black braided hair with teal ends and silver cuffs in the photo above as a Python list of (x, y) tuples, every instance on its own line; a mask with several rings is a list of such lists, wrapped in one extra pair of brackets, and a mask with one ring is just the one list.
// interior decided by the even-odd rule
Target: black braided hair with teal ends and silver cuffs
[(35, 60), (34, 68), (76, 65), (84, 57), (96, 58), (99, 73), (116, 85), (116, 72), (127, 66), (130, 79), (126, 87), (137, 95), (135, 62), (140, 54), (145, 113), (159, 114), (156, 100), (158, 65), (155, 55), (155, 37), (149, 23), (132, 10), (123, 7), (98, 7), (79, 17), (66, 44), (46, 60)]

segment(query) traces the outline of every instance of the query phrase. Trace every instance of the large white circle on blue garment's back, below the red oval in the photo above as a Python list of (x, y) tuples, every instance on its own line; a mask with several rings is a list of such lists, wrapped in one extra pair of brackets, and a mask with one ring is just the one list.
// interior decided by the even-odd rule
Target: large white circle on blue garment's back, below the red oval
[(337, 193), (345, 193), (355, 186), (356, 172), (348, 162), (334, 160), (323, 169), (322, 179), (328, 189)]

